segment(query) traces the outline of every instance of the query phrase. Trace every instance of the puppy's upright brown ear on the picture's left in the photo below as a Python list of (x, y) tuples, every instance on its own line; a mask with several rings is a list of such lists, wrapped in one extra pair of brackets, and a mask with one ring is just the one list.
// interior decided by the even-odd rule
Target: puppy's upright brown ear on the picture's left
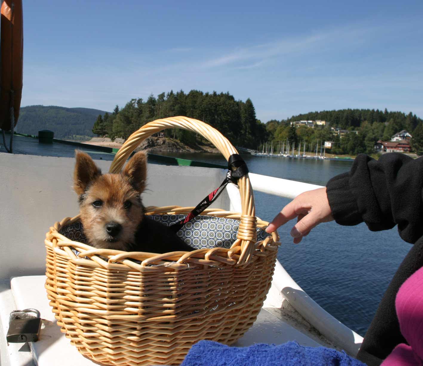
[(77, 195), (82, 195), (88, 184), (101, 175), (102, 171), (85, 152), (75, 150), (75, 159), (74, 191)]

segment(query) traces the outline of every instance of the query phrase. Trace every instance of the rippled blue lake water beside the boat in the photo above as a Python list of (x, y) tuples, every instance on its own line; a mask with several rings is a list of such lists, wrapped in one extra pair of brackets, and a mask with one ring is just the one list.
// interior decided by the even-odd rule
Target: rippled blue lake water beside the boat
[[(166, 152), (162, 155), (226, 165), (217, 154)], [(252, 173), (319, 185), (349, 171), (352, 165), (348, 161), (243, 157)], [(288, 202), (286, 198), (255, 192), (256, 214), (266, 221), (272, 221)], [(364, 336), (411, 245), (401, 240), (396, 228), (375, 233), (364, 223), (341, 226), (335, 222), (320, 224), (296, 245), (289, 235), (294, 223), (288, 222), (278, 230), (282, 243), (278, 260), (320, 306)]]

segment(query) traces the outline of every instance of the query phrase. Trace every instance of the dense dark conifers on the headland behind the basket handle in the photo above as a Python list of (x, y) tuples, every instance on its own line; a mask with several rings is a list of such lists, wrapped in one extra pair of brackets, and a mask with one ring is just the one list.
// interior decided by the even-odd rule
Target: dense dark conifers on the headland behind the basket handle
[[(146, 101), (132, 99), (124, 108), (116, 106), (112, 114), (98, 116), (93, 132), (112, 138), (127, 138), (147, 122), (154, 119), (187, 116), (199, 119), (219, 130), (233, 144), (256, 147), (257, 141), (267, 139), (266, 125), (255, 117), (253, 102), (235, 100), (233, 95), (217, 92), (204, 93), (182, 90), (174, 93), (150, 95)], [(194, 144), (198, 136), (185, 130), (165, 130), (168, 137), (175, 137), (185, 144)]]

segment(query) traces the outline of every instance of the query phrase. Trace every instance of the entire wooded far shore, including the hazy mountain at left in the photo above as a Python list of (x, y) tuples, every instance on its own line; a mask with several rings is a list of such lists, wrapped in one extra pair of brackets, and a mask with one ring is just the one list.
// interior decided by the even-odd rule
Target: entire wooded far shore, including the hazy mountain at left
[[(283, 101), (281, 101), (283, 103)], [(324, 141), (331, 141), (326, 154), (353, 157), (360, 153), (373, 155), (378, 140), (390, 141), (396, 133), (407, 130), (412, 135), (412, 151), (423, 155), (423, 120), (412, 112), (379, 109), (340, 109), (298, 114), (288, 119), (271, 119), (265, 123), (256, 118), (253, 102), (236, 100), (233, 95), (191, 90), (185, 93), (163, 92), (147, 100), (133, 98), (113, 112), (91, 108), (27, 106), (21, 108), (17, 131), (36, 135), (48, 129), (56, 138), (90, 140), (94, 135), (110, 138), (110, 142), (126, 139), (141, 126), (155, 119), (187, 116), (199, 119), (219, 130), (234, 146), (263, 151), (263, 146), (304, 146), (306, 152), (320, 152)], [(291, 122), (318, 121), (297, 127)], [(324, 125), (322, 122), (325, 122)], [(312, 125), (313, 127), (309, 127)], [(195, 133), (166, 129), (150, 141), (151, 151), (209, 152), (208, 143)], [(95, 142), (91, 140), (92, 142)], [(165, 141), (165, 142), (163, 142)], [(99, 142), (99, 141), (97, 141)], [(290, 148), (291, 150), (291, 148)]]

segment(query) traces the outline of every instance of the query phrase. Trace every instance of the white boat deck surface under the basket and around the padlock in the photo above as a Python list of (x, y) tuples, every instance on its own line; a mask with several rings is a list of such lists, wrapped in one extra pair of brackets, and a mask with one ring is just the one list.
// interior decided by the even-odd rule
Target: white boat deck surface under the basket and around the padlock
[[(22, 343), (9, 344), (10, 366), (51, 366), (60, 359), (60, 366), (92, 366), (95, 363), (82, 356), (60, 332), (44, 289), (45, 276), (14, 277), (11, 289), (0, 293), (0, 319), (3, 330), (8, 327), (12, 310), (35, 308), (41, 313), (41, 336), (30, 348)], [(319, 343), (297, 331), (288, 323), (262, 309), (256, 322), (234, 346), (246, 347), (255, 343), (282, 344), (295, 340), (303, 346), (317, 347)], [(3, 366), (8, 363), (2, 363)]]

